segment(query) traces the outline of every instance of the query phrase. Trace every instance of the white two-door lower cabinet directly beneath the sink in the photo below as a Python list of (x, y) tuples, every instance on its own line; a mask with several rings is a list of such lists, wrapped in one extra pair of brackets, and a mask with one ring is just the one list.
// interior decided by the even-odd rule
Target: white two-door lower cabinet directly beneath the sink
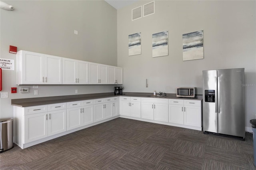
[(141, 118), (168, 122), (168, 99), (141, 98)]

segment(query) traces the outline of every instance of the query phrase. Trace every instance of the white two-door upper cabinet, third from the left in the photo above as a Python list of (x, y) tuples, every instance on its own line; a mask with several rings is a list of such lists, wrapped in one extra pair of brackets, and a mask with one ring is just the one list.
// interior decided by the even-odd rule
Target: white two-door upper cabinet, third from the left
[(108, 65), (89, 63), (89, 84), (108, 84)]

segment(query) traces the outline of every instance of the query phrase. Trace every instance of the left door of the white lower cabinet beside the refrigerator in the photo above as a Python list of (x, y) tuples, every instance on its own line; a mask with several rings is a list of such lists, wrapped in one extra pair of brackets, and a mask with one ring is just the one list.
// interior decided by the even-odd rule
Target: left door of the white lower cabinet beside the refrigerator
[(169, 105), (169, 122), (184, 124), (183, 105)]

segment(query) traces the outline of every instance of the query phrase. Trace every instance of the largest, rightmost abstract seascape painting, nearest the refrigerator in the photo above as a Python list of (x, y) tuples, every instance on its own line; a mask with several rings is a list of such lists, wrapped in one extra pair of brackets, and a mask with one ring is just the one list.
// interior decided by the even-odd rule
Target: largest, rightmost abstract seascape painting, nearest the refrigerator
[(182, 35), (183, 61), (204, 58), (204, 31)]

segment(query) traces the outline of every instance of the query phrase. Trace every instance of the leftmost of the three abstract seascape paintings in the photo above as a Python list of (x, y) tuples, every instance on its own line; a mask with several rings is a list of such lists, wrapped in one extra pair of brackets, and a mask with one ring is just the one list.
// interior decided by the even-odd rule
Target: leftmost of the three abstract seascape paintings
[(141, 54), (141, 33), (135, 33), (128, 36), (129, 48), (128, 55), (138, 55)]

